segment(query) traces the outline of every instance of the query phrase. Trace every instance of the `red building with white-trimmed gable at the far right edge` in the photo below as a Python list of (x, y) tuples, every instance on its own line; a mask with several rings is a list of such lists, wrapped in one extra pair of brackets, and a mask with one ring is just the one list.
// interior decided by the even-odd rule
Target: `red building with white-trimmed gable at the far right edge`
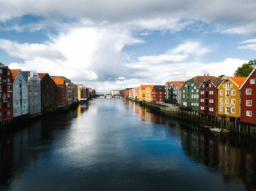
[(256, 125), (256, 68), (240, 87), (241, 91), (241, 122)]

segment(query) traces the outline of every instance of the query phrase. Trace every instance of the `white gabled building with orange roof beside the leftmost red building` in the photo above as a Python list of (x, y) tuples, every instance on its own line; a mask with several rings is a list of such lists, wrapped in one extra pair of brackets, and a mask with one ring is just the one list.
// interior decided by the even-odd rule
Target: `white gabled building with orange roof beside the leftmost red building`
[(13, 117), (29, 114), (29, 90), (20, 69), (11, 70), (13, 77)]

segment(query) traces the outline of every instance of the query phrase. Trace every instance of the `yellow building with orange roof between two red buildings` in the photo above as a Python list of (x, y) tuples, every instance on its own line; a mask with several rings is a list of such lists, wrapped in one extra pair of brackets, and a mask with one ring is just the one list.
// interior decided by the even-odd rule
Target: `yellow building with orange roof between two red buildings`
[(218, 87), (218, 114), (240, 117), (240, 90), (246, 77), (224, 77)]

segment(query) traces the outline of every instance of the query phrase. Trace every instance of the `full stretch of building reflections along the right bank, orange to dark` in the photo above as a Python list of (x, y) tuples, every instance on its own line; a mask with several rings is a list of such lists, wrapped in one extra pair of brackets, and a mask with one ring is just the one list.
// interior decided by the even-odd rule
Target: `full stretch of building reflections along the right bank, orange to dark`
[[(202, 130), (196, 123), (190, 124), (161, 117), (130, 102), (126, 101), (126, 104), (142, 117), (142, 121), (165, 123), (167, 127), (181, 128), (178, 136), (181, 136), (182, 148), (195, 163), (206, 165), (210, 172), (220, 172), (226, 183), (242, 181), (246, 189), (256, 190), (256, 150), (243, 147), (244, 144), (247, 144), (255, 148), (255, 140), (248, 140), (246, 137), (237, 135), (214, 136), (206, 130)], [(143, 120), (143, 117), (146, 117), (147, 120)], [(247, 140), (243, 141), (244, 139)]]

